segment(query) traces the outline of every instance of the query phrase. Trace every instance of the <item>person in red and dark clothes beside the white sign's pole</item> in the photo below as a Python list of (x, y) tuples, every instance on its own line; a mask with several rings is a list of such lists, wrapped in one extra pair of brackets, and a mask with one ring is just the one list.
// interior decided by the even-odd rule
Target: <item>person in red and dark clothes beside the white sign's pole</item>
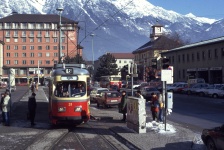
[(158, 96), (155, 93), (152, 93), (152, 98), (150, 102), (151, 111), (152, 111), (152, 119), (155, 121), (155, 119), (158, 119), (158, 112), (159, 112), (159, 101)]

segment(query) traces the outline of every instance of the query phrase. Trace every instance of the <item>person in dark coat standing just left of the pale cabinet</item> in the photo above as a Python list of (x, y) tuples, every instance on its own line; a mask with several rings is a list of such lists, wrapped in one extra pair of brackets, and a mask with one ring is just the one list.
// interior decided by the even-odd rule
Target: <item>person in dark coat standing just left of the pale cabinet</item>
[(122, 121), (126, 121), (126, 114), (127, 114), (127, 95), (126, 91), (122, 91), (121, 96), (121, 103), (118, 105), (119, 113), (123, 114)]

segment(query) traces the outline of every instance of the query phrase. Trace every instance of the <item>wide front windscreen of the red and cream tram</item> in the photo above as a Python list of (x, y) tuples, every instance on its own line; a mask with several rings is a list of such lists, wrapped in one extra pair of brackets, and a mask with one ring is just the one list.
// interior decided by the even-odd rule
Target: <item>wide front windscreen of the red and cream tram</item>
[(81, 97), (86, 94), (86, 84), (81, 81), (58, 82), (54, 93), (57, 97)]

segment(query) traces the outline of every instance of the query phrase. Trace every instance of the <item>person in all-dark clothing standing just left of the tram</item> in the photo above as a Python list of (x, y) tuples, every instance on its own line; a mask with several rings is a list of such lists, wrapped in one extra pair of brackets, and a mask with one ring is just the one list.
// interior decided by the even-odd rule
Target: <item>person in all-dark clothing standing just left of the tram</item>
[(35, 96), (36, 96), (36, 94), (32, 93), (32, 95), (29, 97), (29, 100), (28, 100), (28, 110), (29, 110), (31, 126), (35, 125), (34, 119), (35, 119), (36, 107), (37, 107)]

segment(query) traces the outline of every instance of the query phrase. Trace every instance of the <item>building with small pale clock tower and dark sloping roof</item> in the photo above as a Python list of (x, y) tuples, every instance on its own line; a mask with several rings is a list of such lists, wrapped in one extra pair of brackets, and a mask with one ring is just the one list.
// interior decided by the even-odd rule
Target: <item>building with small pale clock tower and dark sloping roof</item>
[(160, 53), (166, 52), (171, 48), (178, 47), (178, 44), (173, 39), (168, 38), (163, 34), (163, 26), (156, 24), (152, 26), (150, 41), (142, 45), (138, 49), (134, 50), (134, 61), (142, 66), (143, 72), (142, 80), (150, 81), (154, 78), (160, 78), (160, 68), (158, 64), (157, 68), (152, 68), (153, 59), (159, 60), (161, 58)]

